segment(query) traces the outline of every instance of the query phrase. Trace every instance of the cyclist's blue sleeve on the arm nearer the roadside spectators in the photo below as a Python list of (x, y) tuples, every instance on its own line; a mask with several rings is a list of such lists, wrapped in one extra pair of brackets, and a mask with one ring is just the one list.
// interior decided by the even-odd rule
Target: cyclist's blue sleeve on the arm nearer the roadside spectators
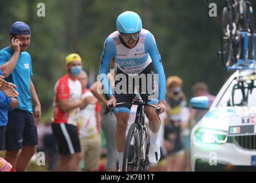
[(108, 69), (109, 69), (111, 58), (115, 54), (116, 54), (115, 43), (113, 42), (113, 39), (111, 37), (108, 37), (104, 43), (104, 49), (103, 49), (103, 54), (101, 55), (100, 71), (99, 71), (100, 73), (99, 79), (103, 84), (104, 91), (105, 93), (108, 94), (108, 97), (111, 97), (113, 95), (110, 87), (110, 82), (108, 79)]

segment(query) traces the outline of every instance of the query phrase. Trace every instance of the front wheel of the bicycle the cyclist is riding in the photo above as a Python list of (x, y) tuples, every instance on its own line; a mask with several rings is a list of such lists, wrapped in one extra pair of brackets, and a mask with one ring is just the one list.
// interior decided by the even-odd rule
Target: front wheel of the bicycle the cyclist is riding
[(139, 171), (139, 126), (133, 123), (127, 134), (123, 158), (123, 172), (138, 172)]

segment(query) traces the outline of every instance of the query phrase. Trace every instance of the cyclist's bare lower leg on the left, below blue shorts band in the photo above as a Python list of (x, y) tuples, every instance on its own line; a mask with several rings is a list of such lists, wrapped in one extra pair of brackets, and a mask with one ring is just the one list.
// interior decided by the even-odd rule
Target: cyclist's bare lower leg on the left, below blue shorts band
[(124, 152), (129, 116), (129, 113), (116, 113), (116, 147), (118, 152)]

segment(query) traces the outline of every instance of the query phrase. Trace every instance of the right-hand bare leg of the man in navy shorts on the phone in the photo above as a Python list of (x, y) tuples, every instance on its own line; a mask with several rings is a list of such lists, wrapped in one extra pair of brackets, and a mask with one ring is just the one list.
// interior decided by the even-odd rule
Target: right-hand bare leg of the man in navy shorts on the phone
[(21, 153), (18, 156), (16, 169), (18, 172), (23, 172), (27, 164), (29, 164), (29, 161), (31, 157), (36, 153), (36, 146), (35, 145), (24, 145)]

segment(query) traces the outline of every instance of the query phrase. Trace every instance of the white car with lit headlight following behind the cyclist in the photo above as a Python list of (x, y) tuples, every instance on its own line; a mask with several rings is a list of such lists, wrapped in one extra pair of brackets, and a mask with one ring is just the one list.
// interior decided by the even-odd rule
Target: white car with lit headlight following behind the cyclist
[[(191, 130), (192, 171), (256, 170), (256, 70), (237, 70)], [(191, 98), (208, 109), (207, 97)]]

